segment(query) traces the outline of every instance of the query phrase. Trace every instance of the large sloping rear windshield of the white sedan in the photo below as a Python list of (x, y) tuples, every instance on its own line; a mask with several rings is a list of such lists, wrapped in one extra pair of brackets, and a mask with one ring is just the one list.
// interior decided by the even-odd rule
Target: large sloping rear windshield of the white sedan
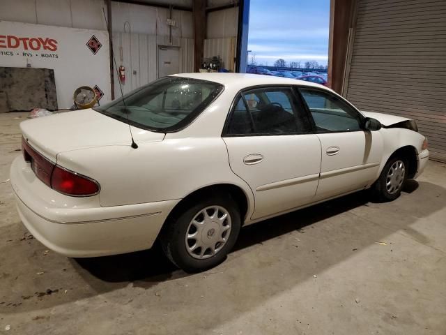
[(163, 77), (93, 110), (132, 126), (169, 133), (185, 128), (223, 90), (217, 82)]

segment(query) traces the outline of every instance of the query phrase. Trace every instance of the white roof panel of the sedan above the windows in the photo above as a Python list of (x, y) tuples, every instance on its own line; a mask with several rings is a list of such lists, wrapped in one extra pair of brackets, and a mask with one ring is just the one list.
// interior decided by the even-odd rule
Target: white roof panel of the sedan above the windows
[[(319, 89), (327, 89), (320, 84), (305, 82), (304, 80), (296, 80), (286, 77), (275, 77), (272, 75), (256, 75), (253, 73), (178, 73), (172, 76), (218, 82), (219, 84), (223, 84), (224, 86), (233, 87), (239, 90), (245, 87), (268, 84), (291, 84), (302, 85), (306, 87), (318, 87)], [(330, 89), (327, 90), (331, 91)]]

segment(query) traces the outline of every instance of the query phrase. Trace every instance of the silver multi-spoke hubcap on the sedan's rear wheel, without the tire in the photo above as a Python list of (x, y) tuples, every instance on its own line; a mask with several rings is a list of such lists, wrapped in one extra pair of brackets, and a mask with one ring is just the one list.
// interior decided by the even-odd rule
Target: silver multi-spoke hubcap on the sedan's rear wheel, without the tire
[(231, 215), (221, 206), (209, 206), (195, 214), (186, 230), (186, 250), (193, 258), (210, 258), (220, 250), (231, 234)]

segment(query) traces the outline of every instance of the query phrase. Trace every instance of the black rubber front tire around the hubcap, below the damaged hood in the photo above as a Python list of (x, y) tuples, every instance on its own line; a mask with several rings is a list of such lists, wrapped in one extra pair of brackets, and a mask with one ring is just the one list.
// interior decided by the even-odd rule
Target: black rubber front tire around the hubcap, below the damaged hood
[[(387, 181), (389, 181), (389, 172), (392, 169), (392, 167), (395, 166), (397, 162), (403, 163), (403, 177), (401, 185), (397, 189), (391, 189), (389, 191), (389, 188), (387, 187)], [(379, 201), (392, 201), (395, 200), (401, 195), (401, 189), (404, 187), (404, 184), (406, 184), (406, 180), (408, 177), (408, 161), (406, 158), (394, 156), (389, 158), (389, 161), (385, 164), (383, 171), (381, 172), (379, 178), (377, 181), (375, 181), (375, 184), (372, 186), (372, 190), (374, 193), (374, 196)], [(399, 179), (401, 180), (401, 179)]]

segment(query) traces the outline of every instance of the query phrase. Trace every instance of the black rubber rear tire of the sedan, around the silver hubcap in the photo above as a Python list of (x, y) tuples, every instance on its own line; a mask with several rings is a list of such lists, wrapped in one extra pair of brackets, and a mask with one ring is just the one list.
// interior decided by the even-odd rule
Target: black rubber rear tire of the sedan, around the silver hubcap
[[(192, 219), (208, 207), (222, 207), (222, 209), (225, 209), (229, 214), (231, 228), (226, 243), (219, 251), (214, 255), (208, 255), (208, 258), (197, 259), (187, 251), (185, 237), (187, 232), (190, 232)], [(226, 255), (236, 243), (240, 225), (240, 211), (236, 202), (229, 195), (210, 195), (206, 198), (186, 202), (176, 215), (171, 216), (162, 230), (160, 242), (167, 258), (180, 269), (189, 273), (205, 271), (219, 265), (226, 259)], [(196, 257), (199, 256), (196, 255)]]

